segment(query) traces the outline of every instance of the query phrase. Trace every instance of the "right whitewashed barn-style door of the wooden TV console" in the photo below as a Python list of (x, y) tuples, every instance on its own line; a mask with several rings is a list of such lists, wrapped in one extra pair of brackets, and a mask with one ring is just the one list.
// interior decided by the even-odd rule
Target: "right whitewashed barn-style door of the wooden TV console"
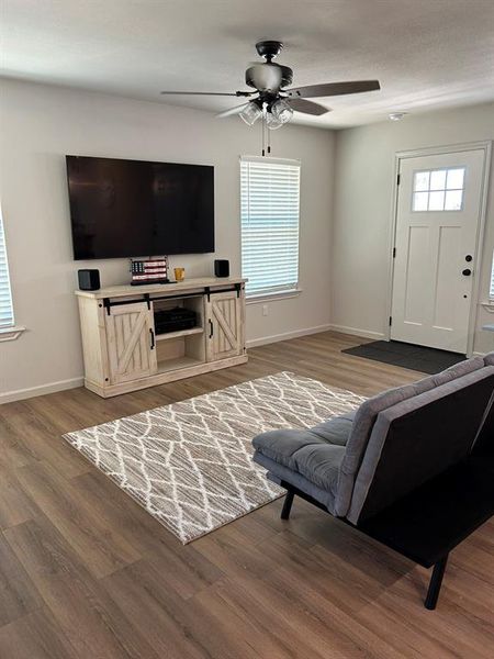
[(244, 354), (244, 299), (236, 291), (212, 293), (206, 302), (206, 359)]

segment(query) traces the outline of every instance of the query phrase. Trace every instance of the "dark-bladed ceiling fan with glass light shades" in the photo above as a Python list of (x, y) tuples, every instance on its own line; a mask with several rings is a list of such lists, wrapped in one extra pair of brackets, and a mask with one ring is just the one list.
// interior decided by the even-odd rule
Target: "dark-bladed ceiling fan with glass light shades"
[[(252, 64), (245, 72), (246, 85), (255, 91), (207, 92), (207, 91), (161, 91), (162, 94), (222, 96), (250, 99), (242, 105), (217, 114), (218, 118), (238, 114), (248, 125), (263, 119), (268, 129), (274, 130), (288, 123), (293, 111), (321, 116), (330, 112), (328, 108), (308, 101), (308, 98), (343, 96), (381, 89), (378, 80), (358, 80), (351, 82), (326, 82), (308, 87), (287, 89), (293, 80), (290, 67), (273, 63), (281, 53), (283, 44), (279, 41), (261, 41), (256, 44), (263, 63)], [(251, 98), (254, 97), (254, 98)]]

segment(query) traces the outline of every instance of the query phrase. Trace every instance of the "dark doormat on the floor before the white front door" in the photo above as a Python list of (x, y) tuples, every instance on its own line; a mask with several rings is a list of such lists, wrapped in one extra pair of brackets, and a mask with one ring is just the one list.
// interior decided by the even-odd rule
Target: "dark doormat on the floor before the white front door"
[(423, 373), (439, 373), (445, 368), (454, 364), (464, 361), (464, 355), (449, 353), (448, 350), (437, 350), (436, 348), (426, 348), (424, 346), (414, 346), (398, 340), (373, 340), (355, 348), (341, 350), (347, 355), (373, 359), (392, 366), (401, 366)]

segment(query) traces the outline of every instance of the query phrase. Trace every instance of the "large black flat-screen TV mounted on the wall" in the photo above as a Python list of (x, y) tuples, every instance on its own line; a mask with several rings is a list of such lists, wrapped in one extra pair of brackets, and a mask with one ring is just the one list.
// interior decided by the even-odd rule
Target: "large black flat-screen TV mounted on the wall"
[(66, 161), (75, 259), (214, 252), (214, 167)]

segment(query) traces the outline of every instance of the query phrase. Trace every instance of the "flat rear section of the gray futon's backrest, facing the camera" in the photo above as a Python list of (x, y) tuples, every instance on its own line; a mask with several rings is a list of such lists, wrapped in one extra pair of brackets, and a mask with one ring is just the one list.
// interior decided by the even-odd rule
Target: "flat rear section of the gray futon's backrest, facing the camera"
[(355, 481), (357, 524), (468, 455), (494, 390), (494, 366), (381, 411)]

